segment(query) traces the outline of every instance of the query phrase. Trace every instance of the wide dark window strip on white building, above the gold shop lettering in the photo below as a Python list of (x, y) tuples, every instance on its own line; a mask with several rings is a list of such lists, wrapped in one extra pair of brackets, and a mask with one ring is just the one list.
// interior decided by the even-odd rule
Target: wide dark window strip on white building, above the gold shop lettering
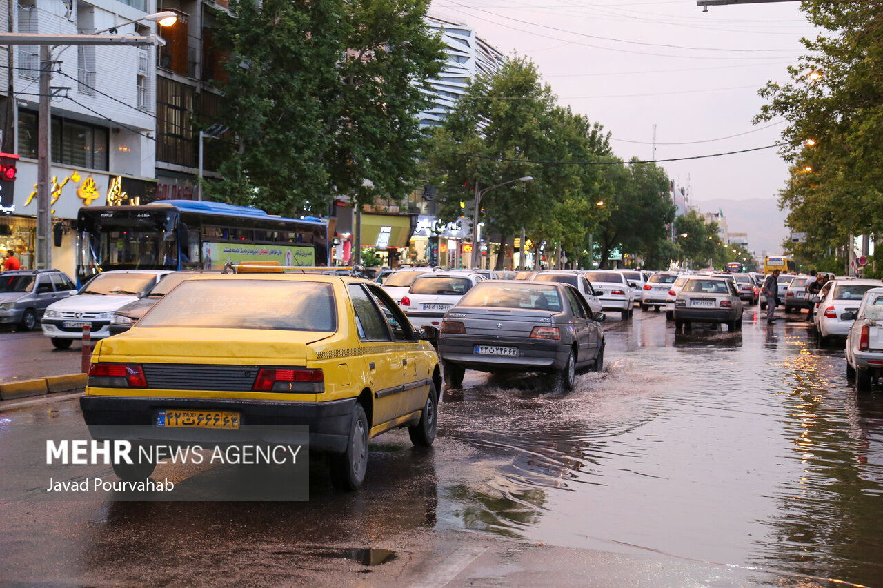
[[(108, 129), (52, 117), (52, 161), (84, 169), (108, 170)], [(37, 115), (19, 111), (19, 155), (37, 157)]]

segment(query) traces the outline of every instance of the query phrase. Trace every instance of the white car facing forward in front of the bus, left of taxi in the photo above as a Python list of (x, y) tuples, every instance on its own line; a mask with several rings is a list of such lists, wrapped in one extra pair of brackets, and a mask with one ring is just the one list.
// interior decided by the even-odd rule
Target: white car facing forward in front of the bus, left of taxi
[(110, 335), (110, 320), (117, 308), (138, 300), (159, 282), (168, 269), (113, 269), (95, 275), (76, 295), (49, 305), (41, 321), (43, 335), (56, 349), (67, 349), (81, 339), (89, 325), (92, 339)]

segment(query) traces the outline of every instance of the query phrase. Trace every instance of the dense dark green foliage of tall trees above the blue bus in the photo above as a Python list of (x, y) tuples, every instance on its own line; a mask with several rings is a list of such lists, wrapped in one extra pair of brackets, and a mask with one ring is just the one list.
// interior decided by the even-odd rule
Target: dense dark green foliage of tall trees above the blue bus
[(348, 195), (401, 200), (419, 177), (416, 113), (442, 67), (428, 0), (233, 0), (223, 112), (238, 146), (207, 185), (216, 200), (324, 214)]

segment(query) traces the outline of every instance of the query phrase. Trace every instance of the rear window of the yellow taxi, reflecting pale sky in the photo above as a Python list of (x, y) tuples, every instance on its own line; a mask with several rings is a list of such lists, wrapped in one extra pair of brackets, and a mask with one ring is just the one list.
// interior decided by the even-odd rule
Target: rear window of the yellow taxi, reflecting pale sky
[(328, 283), (289, 280), (186, 280), (137, 326), (334, 332), (334, 290)]

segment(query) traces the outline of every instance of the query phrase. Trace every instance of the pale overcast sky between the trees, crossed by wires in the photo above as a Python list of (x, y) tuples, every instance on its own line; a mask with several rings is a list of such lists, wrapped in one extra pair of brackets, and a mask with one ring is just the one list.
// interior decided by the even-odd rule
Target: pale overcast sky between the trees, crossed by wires
[[(430, 14), (474, 26), (537, 64), (562, 105), (603, 124), (623, 159), (712, 155), (773, 145), (784, 124), (752, 125), (759, 87), (786, 81), (813, 29), (798, 2), (434, 0)], [(766, 126), (766, 128), (760, 128)], [(739, 136), (736, 136), (739, 135)], [(724, 139), (727, 138), (727, 139)], [(715, 140), (720, 139), (720, 140)], [(703, 200), (775, 200), (788, 167), (775, 148), (660, 162)]]

